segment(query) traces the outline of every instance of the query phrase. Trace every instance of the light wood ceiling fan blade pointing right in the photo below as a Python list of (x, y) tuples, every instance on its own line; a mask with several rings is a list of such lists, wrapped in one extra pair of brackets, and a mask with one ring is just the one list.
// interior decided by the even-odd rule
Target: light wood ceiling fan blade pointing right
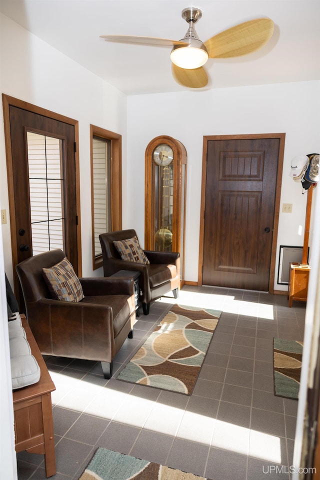
[(256, 18), (232, 26), (204, 42), (209, 58), (229, 58), (258, 50), (271, 37), (274, 23), (270, 18)]

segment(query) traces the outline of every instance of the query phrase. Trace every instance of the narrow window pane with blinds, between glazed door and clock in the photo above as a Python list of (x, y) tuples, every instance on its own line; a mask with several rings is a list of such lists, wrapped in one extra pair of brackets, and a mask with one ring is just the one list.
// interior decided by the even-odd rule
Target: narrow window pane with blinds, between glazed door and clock
[(92, 138), (94, 256), (102, 254), (99, 234), (111, 229), (111, 140)]

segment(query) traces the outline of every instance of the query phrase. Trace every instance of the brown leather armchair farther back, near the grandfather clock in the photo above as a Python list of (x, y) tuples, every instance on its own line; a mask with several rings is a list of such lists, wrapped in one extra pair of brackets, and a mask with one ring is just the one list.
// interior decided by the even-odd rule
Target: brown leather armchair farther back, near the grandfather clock
[(118, 230), (99, 235), (103, 274), (112, 275), (119, 270), (135, 270), (140, 272), (139, 287), (142, 292), (140, 301), (144, 315), (149, 313), (150, 302), (160, 298), (172, 290), (177, 298), (180, 285), (180, 253), (171, 251), (143, 250), (149, 264), (122, 260), (116, 247), (115, 240), (125, 240), (136, 236), (133, 229)]

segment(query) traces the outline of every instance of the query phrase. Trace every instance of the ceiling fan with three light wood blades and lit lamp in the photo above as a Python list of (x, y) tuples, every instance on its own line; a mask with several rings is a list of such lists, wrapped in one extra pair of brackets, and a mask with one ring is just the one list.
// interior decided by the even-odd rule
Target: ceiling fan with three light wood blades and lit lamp
[(182, 18), (189, 27), (181, 40), (130, 35), (100, 35), (100, 38), (120, 43), (172, 46), (170, 58), (175, 81), (183, 86), (200, 88), (208, 82), (203, 68), (208, 58), (246, 55), (263, 46), (273, 33), (274, 24), (270, 18), (256, 18), (232, 26), (202, 42), (194, 29), (194, 24), (201, 16), (199, 8), (182, 10)]

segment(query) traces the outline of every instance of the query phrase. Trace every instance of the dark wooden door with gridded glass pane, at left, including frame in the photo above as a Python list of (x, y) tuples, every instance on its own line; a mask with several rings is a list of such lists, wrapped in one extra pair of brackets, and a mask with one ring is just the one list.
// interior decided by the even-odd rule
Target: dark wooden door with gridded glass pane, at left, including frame
[(61, 248), (79, 270), (75, 124), (19, 100), (12, 104), (5, 95), (3, 100), (14, 291), (23, 311), (17, 263)]

